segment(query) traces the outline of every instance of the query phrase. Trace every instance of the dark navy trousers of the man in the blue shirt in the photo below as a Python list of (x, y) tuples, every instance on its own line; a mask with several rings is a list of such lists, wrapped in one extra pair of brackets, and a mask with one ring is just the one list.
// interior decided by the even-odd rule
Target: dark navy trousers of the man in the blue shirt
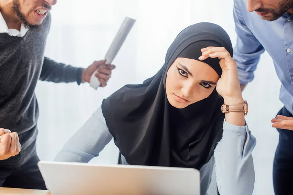
[[(293, 117), (285, 107), (278, 115)], [(275, 195), (293, 195), (293, 131), (277, 130), (279, 143), (273, 162), (273, 187)]]

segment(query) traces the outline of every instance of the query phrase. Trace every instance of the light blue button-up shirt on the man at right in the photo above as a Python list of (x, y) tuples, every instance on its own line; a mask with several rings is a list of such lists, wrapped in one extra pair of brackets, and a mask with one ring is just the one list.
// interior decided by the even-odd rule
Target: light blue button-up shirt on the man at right
[(254, 78), (260, 55), (266, 50), (272, 57), (282, 86), (280, 100), (293, 113), (293, 15), (287, 12), (275, 21), (261, 19), (246, 9), (247, 0), (234, 0), (237, 45), (234, 59), (241, 84)]

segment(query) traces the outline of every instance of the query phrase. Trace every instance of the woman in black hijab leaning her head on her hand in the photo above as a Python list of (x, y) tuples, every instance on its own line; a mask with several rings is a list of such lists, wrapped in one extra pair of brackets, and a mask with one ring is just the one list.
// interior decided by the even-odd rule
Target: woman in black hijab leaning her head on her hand
[(114, 137), (123, 164), (196, 168), (202, 195), (217, 188), (223, 195), (252, 194), (255, 138), (245, 124), (232, 55), (220, 26), (187, 27), (159, 72), (105, 99), (55, 160), (88, 162)]

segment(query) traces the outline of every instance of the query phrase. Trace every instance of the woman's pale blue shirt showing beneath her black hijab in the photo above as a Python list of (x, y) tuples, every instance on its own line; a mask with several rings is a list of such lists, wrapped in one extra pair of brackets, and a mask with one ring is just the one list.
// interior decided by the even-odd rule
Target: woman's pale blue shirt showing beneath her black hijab
[[(252, 195), (255, 173), (251, 152), (256, 140), (247, 126), (238, 127), (224, 121), (223, 138), (214, 156), (199, 171), (201, 195)], [(123, 129), (121, 129), (123, 133)], [(244, 143), (245, 136), (247, 136)], [(99, 108), (69, 139), (55, 157), (61, 162), (89, 162), (99, 156), (111, 141), (102, 109)], [(128, 164), (122, 156), (122, 164)]]

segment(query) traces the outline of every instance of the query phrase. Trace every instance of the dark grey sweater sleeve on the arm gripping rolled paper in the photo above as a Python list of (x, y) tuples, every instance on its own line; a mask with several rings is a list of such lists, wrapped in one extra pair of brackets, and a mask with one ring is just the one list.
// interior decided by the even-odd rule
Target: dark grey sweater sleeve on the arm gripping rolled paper
[(47, 57), (44, 58), (40, 80), (49, 82), (77, 82), (78, 85), (82, 79), (82, 68), (76, 68), (63, 63), (57, 63)]

